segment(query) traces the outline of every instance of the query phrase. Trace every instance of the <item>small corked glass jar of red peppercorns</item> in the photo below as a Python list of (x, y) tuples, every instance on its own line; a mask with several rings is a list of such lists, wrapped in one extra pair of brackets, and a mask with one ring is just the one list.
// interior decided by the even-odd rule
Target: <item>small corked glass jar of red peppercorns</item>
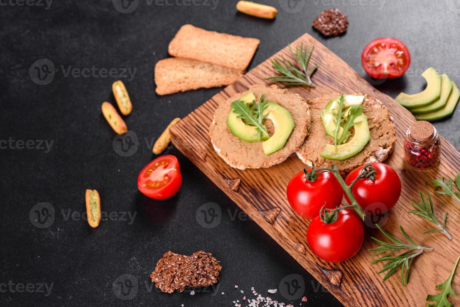
[(406, 134), (406, 161), (418, 169), (428, 169), (441, 158), (441, 140), (436, 128), (426, 120), (412, 124)]

